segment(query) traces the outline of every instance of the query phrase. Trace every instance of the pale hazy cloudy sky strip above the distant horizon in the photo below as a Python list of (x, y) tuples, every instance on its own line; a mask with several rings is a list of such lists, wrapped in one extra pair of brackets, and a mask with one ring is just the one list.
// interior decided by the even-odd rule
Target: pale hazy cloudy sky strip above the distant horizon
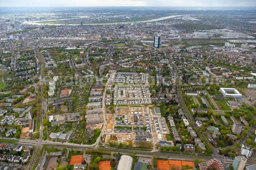
[(256, 0), (0, 0), (0, 6), (256, 6)]

